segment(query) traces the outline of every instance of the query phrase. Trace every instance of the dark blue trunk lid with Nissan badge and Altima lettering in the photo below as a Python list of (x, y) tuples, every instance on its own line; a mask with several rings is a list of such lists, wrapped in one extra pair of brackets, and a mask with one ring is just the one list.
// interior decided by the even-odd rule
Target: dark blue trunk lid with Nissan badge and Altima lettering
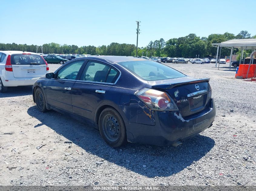
[(152, 88), (161, 89), (173, 98), (182, 116), (198, 113), (207, 107), (209, 95), (209, 78), (193, 79), (190, 77), (164, 80), (156, 82)]

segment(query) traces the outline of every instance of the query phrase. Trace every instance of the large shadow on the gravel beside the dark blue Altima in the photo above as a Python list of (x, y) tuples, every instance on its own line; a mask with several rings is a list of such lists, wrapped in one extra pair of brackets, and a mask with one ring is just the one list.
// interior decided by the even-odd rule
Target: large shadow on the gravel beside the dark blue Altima
[[(111, 148), (103, 141), (99, 131), (91, 125), (55, 111), (40, 113), (36, 106), (30, 107), (27, 113), (41, 122), (35, 127), (40, 128), (46, 125), (84, 149), (85, 152), (150, 178), (168, 177), (184, 170), (194, 161), (205, 156), (215, 144), (213, 139), (197, 135), (178, 147), (128, 143), (122, 148)], [(59, 144), (66, 146), (64, 141)], [(191, 168), (193, 167), (192, 165)], [(187, 170), (191, 169), (188, 167)]]

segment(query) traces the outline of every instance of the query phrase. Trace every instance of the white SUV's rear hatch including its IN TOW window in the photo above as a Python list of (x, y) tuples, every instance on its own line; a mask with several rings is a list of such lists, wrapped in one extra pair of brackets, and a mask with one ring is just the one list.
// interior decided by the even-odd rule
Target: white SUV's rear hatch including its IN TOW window
[(11, 64), (15, 78), (36, 78), (46, 73), (45, 60), (37, 54), (13, 54)]

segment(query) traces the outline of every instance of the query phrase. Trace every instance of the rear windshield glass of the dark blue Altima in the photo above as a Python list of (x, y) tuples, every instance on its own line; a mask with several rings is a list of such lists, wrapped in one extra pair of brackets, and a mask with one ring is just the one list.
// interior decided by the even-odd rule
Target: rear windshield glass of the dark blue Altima
[(166, 80), (186, 76), (164, 64), (149, 60), (119, 62), (119, 64), (127, 68), (133, 74), (148, 81)]

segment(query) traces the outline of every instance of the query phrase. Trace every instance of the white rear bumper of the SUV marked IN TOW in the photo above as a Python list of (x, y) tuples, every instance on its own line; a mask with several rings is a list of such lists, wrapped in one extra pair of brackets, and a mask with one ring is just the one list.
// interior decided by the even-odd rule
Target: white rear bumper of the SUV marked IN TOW
[(40, 79), (41, 77), (37, 78), (16, 78), (15, 80), (8, 80), (4, 77), (1, 77), (2, 83), (6, 87), (16, 87), (16, 86), (29, 86), (34, 85), (35, 81)]

